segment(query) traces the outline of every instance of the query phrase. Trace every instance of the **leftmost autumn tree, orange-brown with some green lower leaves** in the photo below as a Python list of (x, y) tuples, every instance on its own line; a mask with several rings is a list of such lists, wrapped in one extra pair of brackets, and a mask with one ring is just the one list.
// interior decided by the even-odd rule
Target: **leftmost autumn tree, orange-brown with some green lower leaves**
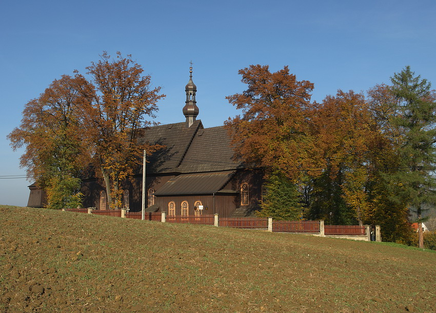
[(47, 191), (49, 208), (81, 204), (79, 176), (86, 153), (78, 112), (89, 90), (82, 75), (63, 75), (25, 105), (21, 125), (8, 135), (14, 150), (25, 147), (20, 164)]

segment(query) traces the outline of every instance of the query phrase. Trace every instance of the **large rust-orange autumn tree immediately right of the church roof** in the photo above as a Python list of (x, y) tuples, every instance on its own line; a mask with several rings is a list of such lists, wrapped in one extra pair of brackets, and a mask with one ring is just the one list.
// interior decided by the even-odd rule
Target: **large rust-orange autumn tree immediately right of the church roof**
[(271, 73), (268, 66), (250, 65), (239, 74), (247, 90), (227, 100), (242, 115), (225, 123), (236, 157), (298, 181), (317, 166), (310, 123), (313, 84), (298, 81), (287, 66)]

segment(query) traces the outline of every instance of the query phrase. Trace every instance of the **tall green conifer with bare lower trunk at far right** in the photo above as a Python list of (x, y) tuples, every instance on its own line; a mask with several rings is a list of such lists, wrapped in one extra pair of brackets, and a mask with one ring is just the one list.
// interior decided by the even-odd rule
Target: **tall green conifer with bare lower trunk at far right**
[(407, 66), (391, 77), (390, 88), (397, 100), (392, 125), (398, 129), (400, 140), (396, 153), (398, 170), (389, 172), (387, 179), (394, 192), (393, 200), (417, 212), (419, 246), (422, 248), (422, 210), (425, 204), (436, 204), (436, 95), (431, 84)]

